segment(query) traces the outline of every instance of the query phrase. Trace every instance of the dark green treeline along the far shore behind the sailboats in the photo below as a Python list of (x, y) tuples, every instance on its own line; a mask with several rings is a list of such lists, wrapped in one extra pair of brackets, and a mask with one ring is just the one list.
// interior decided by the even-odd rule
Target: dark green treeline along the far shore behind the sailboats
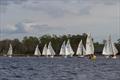
[[(42, 53), (44, 45), (48, 44), (50, 41), (52, 43), (52, 47), (56, 52), (56, 55), (59, 55), (59, 51), (63, 41), (67, 42), (68, 39), (70, 40), (73, 50), (76, 52), (80, 40), (83, 40), (83, 44), (85, 46), (86, 38), (87, 34), (83, 33), (82, 35), (43, 35), (39, 38), (33, 36), (26, 36), (21, 41), (19, 39), (6, 39), (0, 41), (0, 55), (4, 55), (7, 53), (10, 43), (12, 44), (14, 55), (33, 55), (36, 45), (39, 45), (39, 49)], [(96, 54), (102, 53), (104, 42), (105, 40), (103, 40), (103, 43), (94, 42)], [(120, 52), (120, 39), (118, 39), (115, 45)]]

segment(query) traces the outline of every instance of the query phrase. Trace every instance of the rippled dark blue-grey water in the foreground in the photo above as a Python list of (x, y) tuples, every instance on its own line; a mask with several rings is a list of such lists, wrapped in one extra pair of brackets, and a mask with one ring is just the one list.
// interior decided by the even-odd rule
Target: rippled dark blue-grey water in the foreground
[(0, 80), (120, 80), (120, 58), (0, 57)]

